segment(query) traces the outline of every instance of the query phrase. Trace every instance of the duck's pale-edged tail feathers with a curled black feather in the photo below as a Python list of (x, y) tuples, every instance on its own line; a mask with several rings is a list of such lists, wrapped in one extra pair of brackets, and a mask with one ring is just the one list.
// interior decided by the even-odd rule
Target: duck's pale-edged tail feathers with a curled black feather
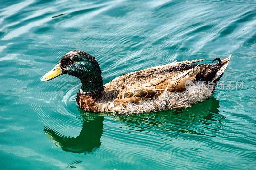
[(212, 79), (213, 82), (220, 80), (220, 78), (222, 77), (224, 71), (228, 66), (230, 58), (231, 58), (231, 55), (228, 58), (225, 58), (224, 60), (221, 60), (221, 61), (218, 60), (219, 58), (213, 60), (213, 62), (216, 60), (219, 61), (218, 63), (212, 65), (212, 69), (217, 70), (215, 77)]

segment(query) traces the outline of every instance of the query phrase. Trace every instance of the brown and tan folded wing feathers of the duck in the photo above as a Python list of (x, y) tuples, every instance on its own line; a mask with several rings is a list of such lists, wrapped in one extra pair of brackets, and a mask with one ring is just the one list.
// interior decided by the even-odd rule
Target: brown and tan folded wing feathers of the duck
[(152, 99), (166, 91), (182, 92), (185, 90), (187, 80), (194, 81), (196, 75), (209, 66), (209, 64), (204, 64), (190, 65), (190, 67), (186, 65), (184, 67), (184, 64), (202, 60), (204, 59), (173, 62), (124, 74), (106, 84), (105, 90), (120, 90), (115, 100), (116, 104), (136, 103), (142, 99)]

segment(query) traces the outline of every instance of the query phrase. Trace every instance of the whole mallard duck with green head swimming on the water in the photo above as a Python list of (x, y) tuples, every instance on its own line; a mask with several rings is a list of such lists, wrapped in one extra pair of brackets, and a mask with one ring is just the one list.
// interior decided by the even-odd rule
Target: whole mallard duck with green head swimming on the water
[(123, 74), (103, 85), (100, 65), (84, 51), (70, 51), (41, 81), (62, 74), (80, 79), (77, 105), (90, 112), (121, 114), (155, 112), (190, 107), (209, 98), (222, 77), (231, 55), (211, 64), (191, 64), (205, 59), (174, 61)]

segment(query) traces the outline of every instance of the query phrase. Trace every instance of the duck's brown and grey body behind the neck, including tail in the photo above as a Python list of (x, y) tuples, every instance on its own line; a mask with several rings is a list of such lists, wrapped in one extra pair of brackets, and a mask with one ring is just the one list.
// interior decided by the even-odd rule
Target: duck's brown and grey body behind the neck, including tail
[(186, 108), (212, 95), (230, 57), (211, 64), (190, 64), (202, 60), (167, 65), (121, 75), (104, 85), (105, 93), (96, 101), (98, 111), (142, 113)]

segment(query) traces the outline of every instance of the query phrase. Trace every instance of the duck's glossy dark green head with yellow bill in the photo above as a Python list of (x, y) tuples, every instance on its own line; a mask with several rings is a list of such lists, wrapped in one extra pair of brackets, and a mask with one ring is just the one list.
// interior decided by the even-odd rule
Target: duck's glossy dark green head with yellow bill
[(46, 73), (41, 81), (49, 81), (62, 74), (79, 78), (82, 88), (87, 88), (86, 91), (95, 90), (95, 86), (103, 87), (99, 63), (92, 55), (84, 51), (70, 51), (63, 55), (59, 63)]

